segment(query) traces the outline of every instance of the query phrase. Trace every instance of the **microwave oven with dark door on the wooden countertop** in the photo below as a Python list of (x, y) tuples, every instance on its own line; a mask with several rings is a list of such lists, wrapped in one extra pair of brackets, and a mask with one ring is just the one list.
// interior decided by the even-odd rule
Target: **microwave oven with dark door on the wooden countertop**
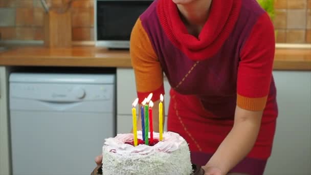
[(152, 0), (95, 0), (95, 43), (97, 47), (128, 49), (132, 28)]

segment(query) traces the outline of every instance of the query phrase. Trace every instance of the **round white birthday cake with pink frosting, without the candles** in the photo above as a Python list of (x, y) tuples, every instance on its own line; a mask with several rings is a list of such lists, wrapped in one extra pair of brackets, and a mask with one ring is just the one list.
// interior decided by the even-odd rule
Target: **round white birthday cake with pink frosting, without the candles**
[(153, 132), (148, 145), (143, 141), (141, 131), (137, 131), (137, 138), (137, 146), (134, 146), (133, 134), (105, 139), (102, 174), (192, 173), (189, 147), (179, 134), (164, 132), (163, 140), (159, 141), (159, 133)]

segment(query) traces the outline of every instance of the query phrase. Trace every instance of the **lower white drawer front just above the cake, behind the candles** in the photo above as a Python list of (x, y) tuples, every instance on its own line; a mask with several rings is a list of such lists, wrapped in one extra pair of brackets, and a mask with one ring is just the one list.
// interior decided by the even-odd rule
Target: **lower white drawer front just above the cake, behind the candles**
[[(117, 133), (129, 133), (132, 128), (131, 115), (117, 115)], [(167, 131), (167, 117), (165, 117), (164, 131)]]

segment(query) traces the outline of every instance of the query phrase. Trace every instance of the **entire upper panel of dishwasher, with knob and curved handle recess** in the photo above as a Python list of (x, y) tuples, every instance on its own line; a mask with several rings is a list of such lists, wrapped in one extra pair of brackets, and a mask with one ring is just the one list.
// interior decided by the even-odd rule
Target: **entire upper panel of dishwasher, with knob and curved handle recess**
[(114, 74), (11, 73), (10, 109), (21, 111), (115, 111)]

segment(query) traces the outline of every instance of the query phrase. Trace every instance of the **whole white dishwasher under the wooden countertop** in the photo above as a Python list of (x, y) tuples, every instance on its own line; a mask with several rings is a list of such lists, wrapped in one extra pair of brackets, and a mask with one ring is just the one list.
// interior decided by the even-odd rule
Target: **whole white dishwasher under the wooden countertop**
[(13, 175), (90, 174), (116, 135), (115, 75), (10, 74)]

